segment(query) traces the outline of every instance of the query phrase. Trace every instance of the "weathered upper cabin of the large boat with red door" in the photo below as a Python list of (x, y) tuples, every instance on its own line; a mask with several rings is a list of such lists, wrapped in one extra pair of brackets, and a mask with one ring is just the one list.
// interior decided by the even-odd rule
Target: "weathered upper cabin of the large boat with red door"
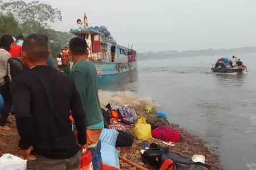
[(137, 53), (106, 36), (100, 27), (71, 29), (71, 33), (85, 39), (88, 45), (88, 59), (92, 62), (135, 62)]

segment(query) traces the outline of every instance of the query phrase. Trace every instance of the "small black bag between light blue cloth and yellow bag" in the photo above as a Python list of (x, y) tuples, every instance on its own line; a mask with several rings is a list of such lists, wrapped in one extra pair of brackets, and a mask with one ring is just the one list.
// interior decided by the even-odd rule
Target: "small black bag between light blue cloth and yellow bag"
[(123, 147), (123, 146), (133, 145), (133, 140), (134, 140), (133, 134), (124, 130), (117, 130), (117, 131), (119, 134), (117, 136), (117, 142), (115, 142), (115, 146)]

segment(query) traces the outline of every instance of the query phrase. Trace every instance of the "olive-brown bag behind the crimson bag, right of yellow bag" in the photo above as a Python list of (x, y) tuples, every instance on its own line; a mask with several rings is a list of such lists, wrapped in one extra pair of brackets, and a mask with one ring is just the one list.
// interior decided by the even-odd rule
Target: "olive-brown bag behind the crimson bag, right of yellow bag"
[(158, 116), (155, 114), (148, 114), (145, 116), (147, 124), (151, 125), (151, 129), (158, 128), (160, 126), (167, 126), (171, 127), (170, 123), (168, 120), (162, 116)]

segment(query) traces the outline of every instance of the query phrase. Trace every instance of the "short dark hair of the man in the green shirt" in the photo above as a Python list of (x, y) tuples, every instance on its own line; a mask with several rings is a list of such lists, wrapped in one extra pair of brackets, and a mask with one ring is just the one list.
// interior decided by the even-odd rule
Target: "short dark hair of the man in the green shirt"
[(73, 37), (69, 41), (69, 50), (72, 51), (75, 55), (83, 55), (86, 54), (87, 51), (87, 43), (85, 39), (81, 37)]

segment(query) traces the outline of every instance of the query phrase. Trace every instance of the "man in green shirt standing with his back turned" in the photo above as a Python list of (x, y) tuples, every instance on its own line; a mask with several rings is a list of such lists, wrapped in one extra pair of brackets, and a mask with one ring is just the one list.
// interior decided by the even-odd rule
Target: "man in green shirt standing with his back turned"
[[(104, 121), (98, 98), (98, 76), (96, 67), (88, 61), (87, 43), (81, 37), (74, 37), (69, 42), (70, 54), (75, 65), (71, 77), (79, 91), (87, 117), (87, 145), (92, 151), (93, 169), (102, 169), (100, 135)], [(76, 121), (75, 121), (76, 123)]]

